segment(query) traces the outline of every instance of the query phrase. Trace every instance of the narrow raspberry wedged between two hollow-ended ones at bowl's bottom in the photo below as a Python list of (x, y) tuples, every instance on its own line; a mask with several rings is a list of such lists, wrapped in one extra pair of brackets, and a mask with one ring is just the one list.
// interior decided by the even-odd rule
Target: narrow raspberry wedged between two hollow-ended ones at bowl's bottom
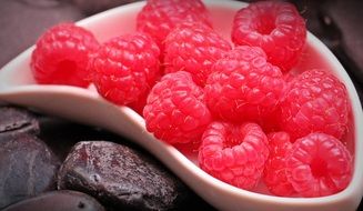
[(273, 132), (268, 139), (270, 155), (264, 167), (263, 181), (271, 193), (289, 197), (295, 192), (285, 172), (285, 157), (292, 148), (290, 135), (286, 132)]

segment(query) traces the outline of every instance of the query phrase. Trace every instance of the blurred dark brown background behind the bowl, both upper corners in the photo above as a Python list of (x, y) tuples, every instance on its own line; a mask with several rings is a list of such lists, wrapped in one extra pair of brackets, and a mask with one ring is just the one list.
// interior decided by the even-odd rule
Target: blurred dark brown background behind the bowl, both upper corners
[[(32, 46), (50, 26), (77, 21), (132, 0), (0, 0), (0, 67)], [(339, 58), (362, 99), (363, 1), (294, 0), (307, 28)]]

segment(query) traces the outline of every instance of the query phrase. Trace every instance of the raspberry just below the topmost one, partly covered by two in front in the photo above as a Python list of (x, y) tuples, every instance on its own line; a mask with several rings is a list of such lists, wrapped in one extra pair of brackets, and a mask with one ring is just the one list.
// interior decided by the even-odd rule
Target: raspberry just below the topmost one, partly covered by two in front
[(231, 50), (228, 41), (199, 22), (180, 24), (165, 39), (165, 72), (183, 70), (204, 87), (213, 63)]

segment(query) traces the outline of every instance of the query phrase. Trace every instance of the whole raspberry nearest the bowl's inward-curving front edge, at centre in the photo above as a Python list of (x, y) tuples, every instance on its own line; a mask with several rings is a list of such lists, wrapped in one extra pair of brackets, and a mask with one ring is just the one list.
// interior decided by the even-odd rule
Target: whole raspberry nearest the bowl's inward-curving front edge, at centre
[(143, 115), (148, 131), (169, 143), (200, 141), (211, 122), (203, 90), (184, 71), (165, 74), (151, 89)]

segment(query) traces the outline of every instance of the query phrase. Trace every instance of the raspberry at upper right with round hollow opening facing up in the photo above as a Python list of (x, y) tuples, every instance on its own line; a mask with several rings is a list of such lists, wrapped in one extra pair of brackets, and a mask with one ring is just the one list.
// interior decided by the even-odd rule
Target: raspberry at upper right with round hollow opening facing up
[(261, 1), (236, 12), (232, 40), (241, 46), (261, 47), (268, 61), (282, 71), (298, 61), (306, 39), (304, 19), (288, 2)]

